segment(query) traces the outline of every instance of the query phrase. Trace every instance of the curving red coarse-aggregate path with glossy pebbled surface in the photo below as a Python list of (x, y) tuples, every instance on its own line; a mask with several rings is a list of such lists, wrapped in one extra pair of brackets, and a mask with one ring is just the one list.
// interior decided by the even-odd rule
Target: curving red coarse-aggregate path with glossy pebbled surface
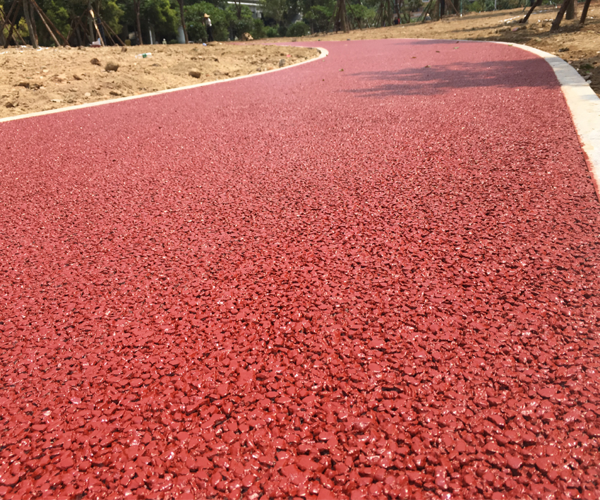
[(551, 68), (323, 45), (0, 125), (1, 497), (600, 496), (600, 205)]

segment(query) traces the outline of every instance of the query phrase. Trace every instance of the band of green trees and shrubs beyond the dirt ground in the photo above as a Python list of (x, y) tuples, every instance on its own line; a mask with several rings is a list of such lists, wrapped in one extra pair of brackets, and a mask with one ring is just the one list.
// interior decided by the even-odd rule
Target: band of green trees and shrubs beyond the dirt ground
[[(17, 30), (13, 35), (18, 43), (32, 43), (32, 35), (40, 45), (51, 46), (54, 39), (35, 11), (32, 0), (0, 0), (0, 25), (6, 13), (16, 8)], [(434, 0), (430, 0), (434, 1)], [(263, 18), (253, 18), (250, 9), (239, 3), (224, 0), (36, 0), (49, 20), (71, 45), (90, 44), (97, 32), (88, 15), (93, 8), (100, 30), (107, 44), (120, 38), (125, 43), (137, 44), (138, 39), (150, 43), (166, 40), (176, 43), (181, 23), (181, 9), (188, 39), (206, 42), (204, 14), (210, 14), (212, 35), (216, 40), (241, 38), (250, 33), (253, 38), (289, 36), (299, 37), (314, 32), (335, 30), (337, 0), (260, 0)], [(491, 11), (495, 8), (515, 8), (529, 5), (529, 0), (445, 0), (446, 13)], [(546, 3), (553, 3), (548, 0)], [(556, 2), (554, 2), (556, 3)], [(388, 7), (385, 8), (384, 6)], [(389, 25), (397, 17), (400, 23), (415, 22), (427, 4), (422, 0), (348, 0), (347, 18), (351, 29)], [(455, 8), (452, 7), (455, 6)], [(24, 8), (25, 7), (25, 8)], [(387, 9), (387, 10), (386, 10)], [(28, 12), (29, 13), (28, 13)], [(433, 12), (433, 18), (438, 13)], [(28, 16), (30, 19), (28, 20)], [(12, 16), (11, 16), (12, 17)], [(132, 35), (130, 35), (132, 34)], [(8, 28), (0, 32), (0, 43), (8, 35)]]

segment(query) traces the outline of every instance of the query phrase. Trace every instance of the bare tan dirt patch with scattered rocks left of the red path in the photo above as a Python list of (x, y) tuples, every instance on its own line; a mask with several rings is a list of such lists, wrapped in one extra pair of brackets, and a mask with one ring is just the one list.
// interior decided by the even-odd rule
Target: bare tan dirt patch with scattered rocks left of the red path
[[(145, 52), (152, 56), (139, 57)], [(0, 118), (270, 71), (316, 56), (316, 49), (303, 47), (219, 43), (127, 51), (0, 47)], [(109, 63), (119, 67), (111, 71)]]

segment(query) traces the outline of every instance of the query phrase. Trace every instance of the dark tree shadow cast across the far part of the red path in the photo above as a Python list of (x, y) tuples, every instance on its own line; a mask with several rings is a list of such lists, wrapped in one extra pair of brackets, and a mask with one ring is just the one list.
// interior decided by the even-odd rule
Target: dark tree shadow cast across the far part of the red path
[(459, 61), (431, 67), (352, 73), (364, 87), (344, 90), (363, 97), (436, 95), (453, 89), (474, 87), (558, 87), (558, 80), (541, 58), (469, 63)]

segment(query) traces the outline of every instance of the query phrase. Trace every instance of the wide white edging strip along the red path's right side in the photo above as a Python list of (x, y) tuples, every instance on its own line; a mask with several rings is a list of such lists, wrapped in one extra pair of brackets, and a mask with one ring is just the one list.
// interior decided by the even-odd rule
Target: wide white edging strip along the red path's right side
[(508, 42), (496, 43), (512, 45), (532, 52), (546, 59), (546, 62), (554, 70), (558, 83), (560, 83), (560, 90), (563, 91), (565, 101), (571, 111), (582, 149), (587, 155), (589, 173), (592, 176), (594, 188), (596, 188), (596, 195), (600, 199), (600, 98), (575, 68), (560, 57), (527, 47), (527, 45)]

